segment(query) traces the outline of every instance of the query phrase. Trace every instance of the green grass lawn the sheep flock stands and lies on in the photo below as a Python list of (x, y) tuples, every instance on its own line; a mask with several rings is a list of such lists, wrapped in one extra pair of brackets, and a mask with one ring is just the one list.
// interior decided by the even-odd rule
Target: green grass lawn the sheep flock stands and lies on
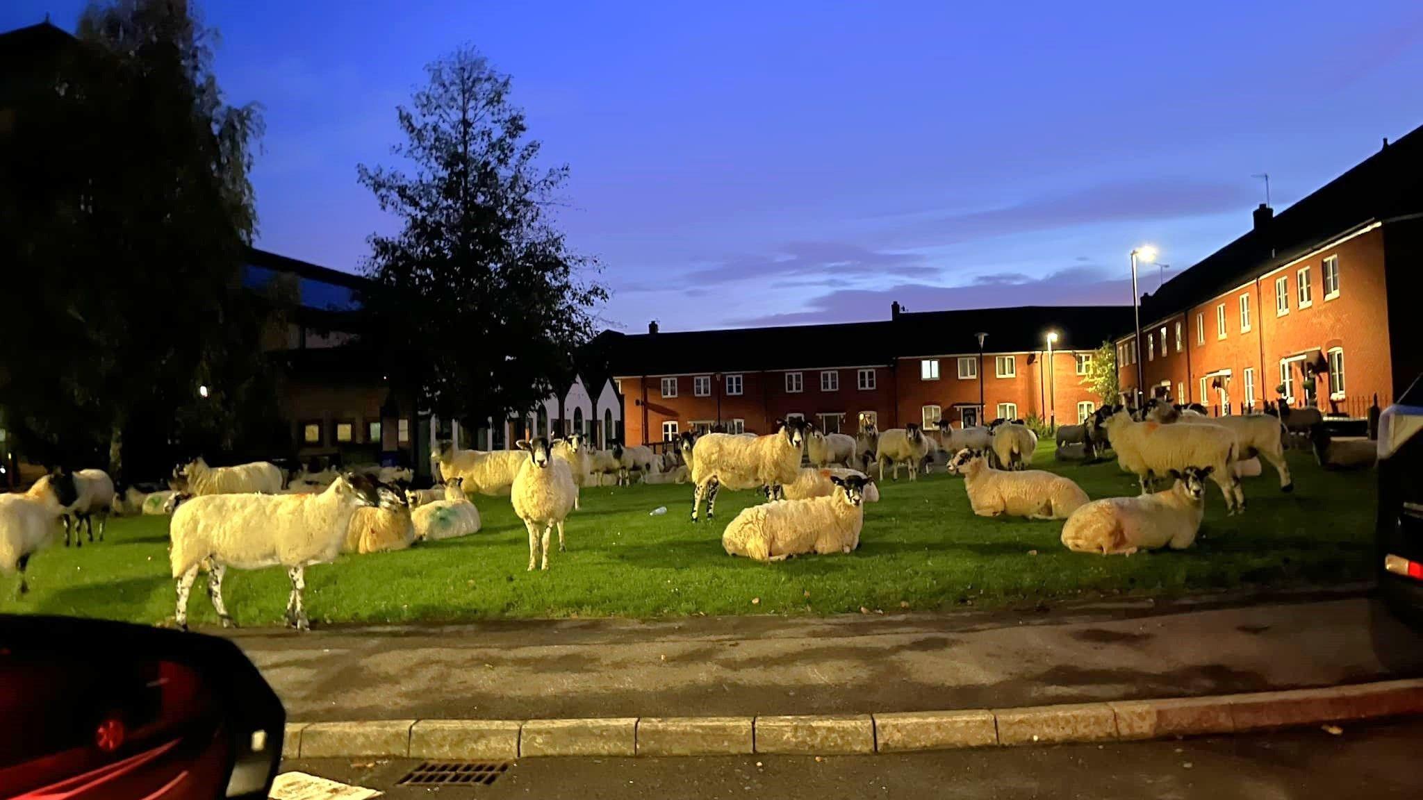
[[(1248, 511), (1225, 517), (1208, 485), (1204, 538), (1184, 552), (1094, 557), (1067, 552), (1062, 522), (980, 518), (962, 480), (942, 468), (915, 484), (885, 481), (865, 505), (859, 549), (783, 564), (731, 558), (721, 530), (756, 493), (723, 491), (713, 524), (687, 521), (690, 485), (589, 488), (568, 521), (568, 552), (548, 572), (525, 572), (528, 535), (507, 498), (477, 498), (484, 530), (404, 552), (343, 555), (307, 571), (313, 621), (407, 622), (498, 616), (679, 616), (696, 614), (840, 614), (1036, 604), (1101, 594), (1171, 595), (1241, 586), (1329, 584), (1370, 575), (1372, 473), (1323, 473), (1291, 451), (1295, 493), (1282, 494), (1266, 465), (1245, 483)], [(1116, 461), (1046, 465), (1093, 498), (1136, 494)], [(666, 515), (649, 511), (667, 507)], [(556, 545), (555, 545), (556, 547)], [(1033, 555), (1036, 551), (1036, 555)], [(31, 592), (16, 599), (0, 577), (0, 612), (172, 618), (168, 518), (114, 520), (108, 541), (57, 544), (30, 562)], [(289, 584), (280, 568), (229, 571), (223, 592), (239, 625), (280, 625)], [(216, 615), (201, 589), (196, 625)]]

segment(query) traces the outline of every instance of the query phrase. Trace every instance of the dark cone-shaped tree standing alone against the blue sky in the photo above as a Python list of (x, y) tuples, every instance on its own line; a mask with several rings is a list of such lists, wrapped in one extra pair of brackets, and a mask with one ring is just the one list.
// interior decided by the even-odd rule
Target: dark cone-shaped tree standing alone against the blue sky
[(447, 419), (522, 413), (572, 374), (608, 290), (569, 252), (551, 209), (568, 167), (541, 168), (539, 142), (509, 100), (509, 78), (472, 47), (425, 67), (397, 108), (408, 171), (359, 167), (381, 209), (403, 221), (373, 235), (366, 298), (377, 339), (424, 403)]

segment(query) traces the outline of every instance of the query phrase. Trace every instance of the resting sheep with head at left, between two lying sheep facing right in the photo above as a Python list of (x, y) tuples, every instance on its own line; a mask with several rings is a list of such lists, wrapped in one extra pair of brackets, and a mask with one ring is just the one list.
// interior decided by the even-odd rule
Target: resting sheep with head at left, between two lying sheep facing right
[(1087, 502), (1087, 493), (1072, 478), (1046, 470), (995, 470), (983, 450), (959, 450), (949, 471), (963, 475), (963, 491), (979, 517), (1066, 520)]

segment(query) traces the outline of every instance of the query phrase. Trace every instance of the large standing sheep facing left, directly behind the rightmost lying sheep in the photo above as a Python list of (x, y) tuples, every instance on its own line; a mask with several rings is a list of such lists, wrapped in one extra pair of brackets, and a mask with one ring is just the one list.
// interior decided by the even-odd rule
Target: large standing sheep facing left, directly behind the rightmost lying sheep
[(1155, 475), (1171, 470), (1190, 467), (1212, 467), (1211, 480), (1221, 487), (1227, 514), (1245, 510), (1245, 493), (1235, 474), (1235, 434), (1220, 426), (1187, 424), (1164, 426), (1161, 423), (1138, 423), (1126, 409), (1103, 423), (1111, 448), (1117, 451), (1117, 464), (1137, 475), (1141, 494), (1147, 494)]

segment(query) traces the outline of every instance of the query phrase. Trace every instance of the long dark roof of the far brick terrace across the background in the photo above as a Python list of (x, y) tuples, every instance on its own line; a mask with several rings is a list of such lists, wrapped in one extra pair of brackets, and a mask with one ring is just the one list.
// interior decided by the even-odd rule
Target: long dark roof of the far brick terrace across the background
[(676, 333), (605, 332), (615, 376), (760, 372), (891, 364), (895, 359), (1046, 347), (1049, 330), (1063, 350), (1096, 349), (1131, 325), (1130, 306), (1017, 306), (904, 312), (887, 322), (739, 327)]

